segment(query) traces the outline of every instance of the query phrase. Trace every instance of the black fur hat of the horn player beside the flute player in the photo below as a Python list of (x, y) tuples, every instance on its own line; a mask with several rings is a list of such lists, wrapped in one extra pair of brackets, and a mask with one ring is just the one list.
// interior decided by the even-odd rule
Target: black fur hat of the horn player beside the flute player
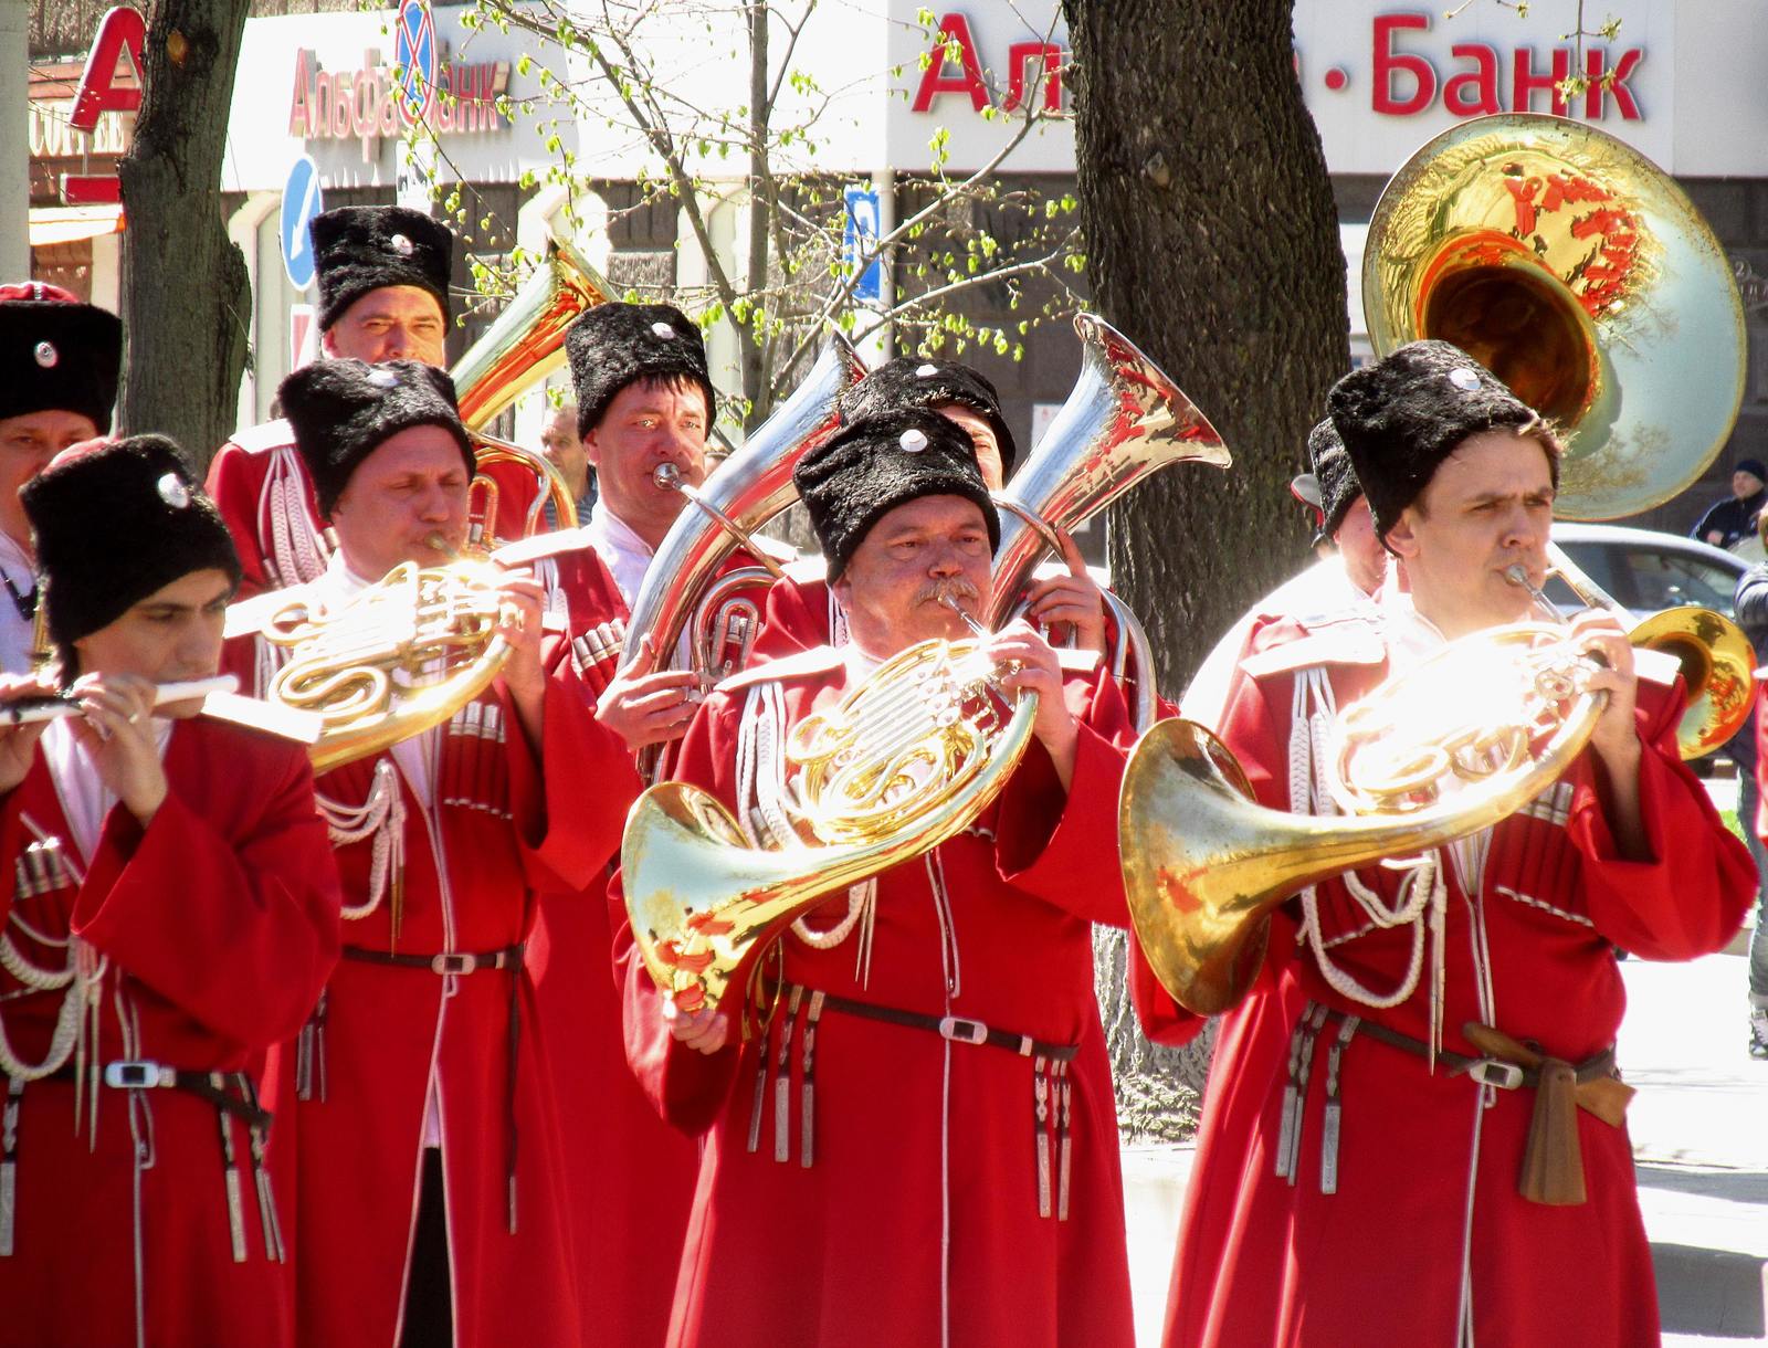
[(295, 448), (327, 518), (362, 460), (412, 426), (449, 432), (467, 460), (467, 472), (474, 472), (472, 440), (460, 421), (454, 380), (435, 366), (315, 361), (285, 379), (276, 396), (295, 428)]

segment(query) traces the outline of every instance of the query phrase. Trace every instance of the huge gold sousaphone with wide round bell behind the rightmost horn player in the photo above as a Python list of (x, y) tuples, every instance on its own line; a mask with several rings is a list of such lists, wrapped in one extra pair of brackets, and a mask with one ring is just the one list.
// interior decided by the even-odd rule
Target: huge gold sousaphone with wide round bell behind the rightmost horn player
[[(1743, 398), (1743, 304), (1713, 232), (1650, 159), (1559, 117), (1482, 117), (1407, 159), (1368, 225), (1363, 311), (1377, 354), (1453, 341), (1552, 417), (1566, 440), (1554, 511), (1572, 520), (1692, 485)], [(1552, 563), (1632, 626), (1558, 548)], [(1741, 729), (1754, 660), (1736, 623), (1688, 607), (1634, 637), (1683, 663), (1683, 757)]]

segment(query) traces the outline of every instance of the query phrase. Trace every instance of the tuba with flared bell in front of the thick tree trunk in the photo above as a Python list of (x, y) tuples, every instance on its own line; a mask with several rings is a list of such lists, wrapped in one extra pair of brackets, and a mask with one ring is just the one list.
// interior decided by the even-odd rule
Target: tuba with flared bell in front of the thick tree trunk
[[(1123, 333), (1093, 313), (1075, 315), (1075, 333), (1080, 377), (1031, 458), (995, 494), (1002, 518), (990, 626), (1006, 619), (1038, 561), (1057, 550), (1054, 529), (1077, 529), (1170, 463), (1232, 463), (1209, 417)], [(1137, 729), (1146, 731), (1156, 695), (1147, 637), (1114, 594), (1107, 603), (1119, 632), (1114, 672), (1133, 672)]]

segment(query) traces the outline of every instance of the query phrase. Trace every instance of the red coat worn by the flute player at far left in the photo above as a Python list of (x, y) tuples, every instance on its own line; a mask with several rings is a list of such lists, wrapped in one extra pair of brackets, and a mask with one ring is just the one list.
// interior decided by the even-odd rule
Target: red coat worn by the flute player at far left
[[(133, 1058), (246, 1072), (301, 1026), (338, 959), (338, 869), (313, 775), (299, 747), (209, 720), (173, 727), (164, 766), (170, 791), (152, 823), (143, 830), (113, 808), (81, 879), (39, 747), (0, 807), (0, 856), (21, 881), (0, 900), (0, 923), (32, 966), (58, 971), (69, 950), (30, 932), (71, 934), (106, 961), (92, 987), (88, 1070)], [(50, 839), (65, 874), (51, 867), (51, 885), (34, 886), (27, 849), (41, 854)], [(48, 1056), (64, 996), (0, 973), (5, 1038), (23, 1063)], [(0, 1258), (0, 1343), (288, 1343), (286, 1283), (267, 1260), (246, 1125), (228, 1120), (246, 1251), (235, 1263), (216, 1106), (182, 1090), (99, 1095), (95, 1132), (88, 1113), (78, 1134), (72, 1081), (25, 1083), (12, 1097), (16, 1229)], [(293, 1194), (276, 1192), (271, 1206), (286, 1215)]]

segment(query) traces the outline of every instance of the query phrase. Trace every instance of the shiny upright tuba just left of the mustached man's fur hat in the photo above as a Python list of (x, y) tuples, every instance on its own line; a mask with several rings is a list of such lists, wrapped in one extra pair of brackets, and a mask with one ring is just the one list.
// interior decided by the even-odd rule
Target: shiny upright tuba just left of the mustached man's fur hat
[[(709, 612), (705, 594), (718, 568), (748, 541), (748, 534), (797, 501), (792, 469), (834, 433), (836, 398), (863, 373), (865, 364), (852, 343), (831, 333), (792, 396), (698, 488), (686, 492), (690, 508), (675, 517), (633, 596), (622, 663), (633, 662), (644, 637), (651, 637), (661, 658), (668, 660), (690, 623), (695, 626), (695, 647), (707, 644), (704, 630), (716, 621), (716, 612)], [(743, 578), (767, 584), (771, 575), (757, 568), (755, 575)], [(702, 674), (714, 679), (721, 670), (702, 669)]]

